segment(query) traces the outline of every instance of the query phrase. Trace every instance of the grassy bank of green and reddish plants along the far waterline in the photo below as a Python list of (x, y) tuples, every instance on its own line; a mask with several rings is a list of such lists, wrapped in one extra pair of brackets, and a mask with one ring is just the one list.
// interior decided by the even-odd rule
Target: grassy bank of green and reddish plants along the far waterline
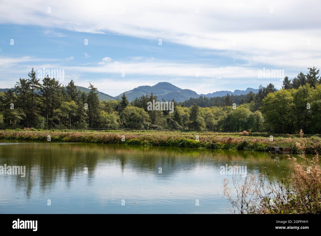
[[(152, 146), (194, 147), (210, 149), (232, 149), (247, 151), (270, 151), (277, 144), (291, 147), (292, 153), (298, 153), (296, 143), (304, 144), (307, 154), (321, 153), (321, 137), (318, 135), (273, 135), (273, 142), (267, 133), (241, 135), (239, 133), (179, 132), (179, 131), (120, 131), (120, 130), (0, 130), (0, 139), (47, 141), (52, 142), (136, 144)], [(122, 141), (122, 135), (125, 141)], [(195, 136), (199, 136), (196, 141)]]

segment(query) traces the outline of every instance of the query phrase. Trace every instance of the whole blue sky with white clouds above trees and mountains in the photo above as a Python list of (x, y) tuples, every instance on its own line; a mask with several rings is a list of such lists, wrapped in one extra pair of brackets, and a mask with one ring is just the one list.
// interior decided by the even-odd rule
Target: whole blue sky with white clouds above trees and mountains
[(112, 96), (158, 82), (197, 93), (270, 82), (280, 88), (280, 78), (258, 78), (258, 70), (293, 78), (320, 66), (320, 6), (312, 0), (4, 0), (0, 87), (13, 87), (34, 67), (36, 74), (64, 70), (62, 84), (90, 82)]

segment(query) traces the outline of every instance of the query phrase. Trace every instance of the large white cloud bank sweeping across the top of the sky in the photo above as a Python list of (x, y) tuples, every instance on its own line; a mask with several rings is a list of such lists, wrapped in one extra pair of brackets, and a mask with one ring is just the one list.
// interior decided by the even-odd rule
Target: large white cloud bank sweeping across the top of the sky
[[(48, 5), (51, 13), (47, 13)], [(196, 7), (199, 13), (196, 13)], [(270, 13), (273, 7), (273, 13)], [(0, 3), (0, 23), (162, 39), (250, 63), (319, 66), (320, 1), (25, 1)], [(298, 17), (302, 16), (302, 17)], [(110, 22), (113, 22), (112, 24)], [(308, 44), (309, 42), (309, 44)]]

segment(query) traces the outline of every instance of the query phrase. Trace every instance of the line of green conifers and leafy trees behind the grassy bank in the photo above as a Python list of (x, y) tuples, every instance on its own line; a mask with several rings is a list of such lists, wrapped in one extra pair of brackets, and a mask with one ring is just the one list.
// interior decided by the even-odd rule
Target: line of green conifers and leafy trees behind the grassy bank
[(318, 74), (319, 70), (313, 67), (292, 80), (286, 76), (279, 91), (270, 83), (266, 87), (260, 85), (256, 94), (200, 96), (184, 102), (173, 99), (174, 112), (170, 113), (147, 109), (148, 102), (159, 101), (153, 93), (131, 102), (125, 93), (117, 100), (99, 101), (97, 88), (91, 83), (88, 94), (78, 90), (73, 80), (62, 85), (46, 76), (40, 83), (32, 68), (28, 79), (20, 78), (13, 89), (0, 93), (0, 126), (291, 134), (303, 129), (305, 133), (319, 133), (321, 81)]

